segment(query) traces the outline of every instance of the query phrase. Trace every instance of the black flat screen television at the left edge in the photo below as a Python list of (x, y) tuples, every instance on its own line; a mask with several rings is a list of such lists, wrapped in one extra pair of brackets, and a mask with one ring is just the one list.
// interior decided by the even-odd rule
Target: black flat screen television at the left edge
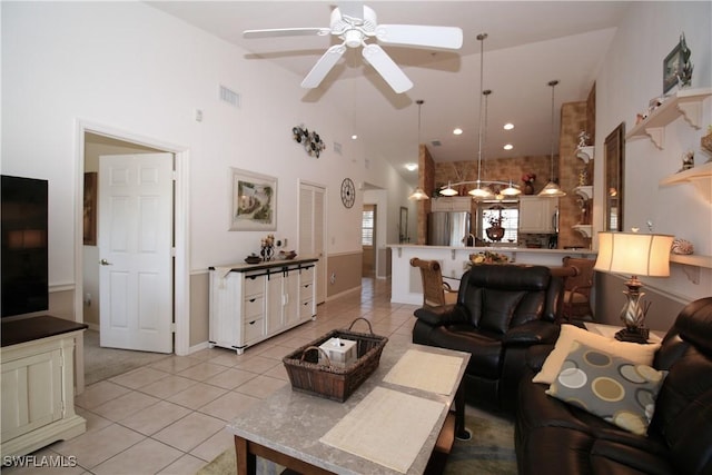
[(2, 317), (49, 309), (47, 180), (2, 175)]

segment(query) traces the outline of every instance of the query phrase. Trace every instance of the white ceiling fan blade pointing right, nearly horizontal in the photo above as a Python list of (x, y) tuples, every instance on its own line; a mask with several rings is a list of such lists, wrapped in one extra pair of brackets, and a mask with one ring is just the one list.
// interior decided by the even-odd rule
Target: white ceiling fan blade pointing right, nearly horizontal
[(455, 27), (428, 27), (419, 24), (379, 24), (376, 38), (389, 44), (412, 44), (432, 48), (459, 49), (463, 30)]

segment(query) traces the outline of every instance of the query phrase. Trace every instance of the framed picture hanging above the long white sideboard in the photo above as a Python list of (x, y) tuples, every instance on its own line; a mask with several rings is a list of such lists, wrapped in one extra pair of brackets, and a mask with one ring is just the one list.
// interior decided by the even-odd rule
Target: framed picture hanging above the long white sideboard
[(277, 229), (277, 178), (230, 168), (230, 230)]

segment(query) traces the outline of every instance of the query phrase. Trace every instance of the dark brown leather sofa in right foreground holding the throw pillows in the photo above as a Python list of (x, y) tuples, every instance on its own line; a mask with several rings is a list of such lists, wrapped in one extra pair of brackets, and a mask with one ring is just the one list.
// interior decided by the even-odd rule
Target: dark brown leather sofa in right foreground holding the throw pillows
[(520, 384), (520, 475), (712, 474), (712, 297), (685, 306), (655, 354), (653, 366), (669, 374), (647, 436), (547, 396), (546, 385), (531, 382), (547, 354), (530, 353)]

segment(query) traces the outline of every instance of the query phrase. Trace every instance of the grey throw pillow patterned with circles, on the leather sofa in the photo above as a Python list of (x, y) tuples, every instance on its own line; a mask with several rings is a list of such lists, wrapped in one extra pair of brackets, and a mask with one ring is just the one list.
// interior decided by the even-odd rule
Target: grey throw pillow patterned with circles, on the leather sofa
[(668, 372), (574, 342), (546, 394), (645, 435), (666, 375)]

